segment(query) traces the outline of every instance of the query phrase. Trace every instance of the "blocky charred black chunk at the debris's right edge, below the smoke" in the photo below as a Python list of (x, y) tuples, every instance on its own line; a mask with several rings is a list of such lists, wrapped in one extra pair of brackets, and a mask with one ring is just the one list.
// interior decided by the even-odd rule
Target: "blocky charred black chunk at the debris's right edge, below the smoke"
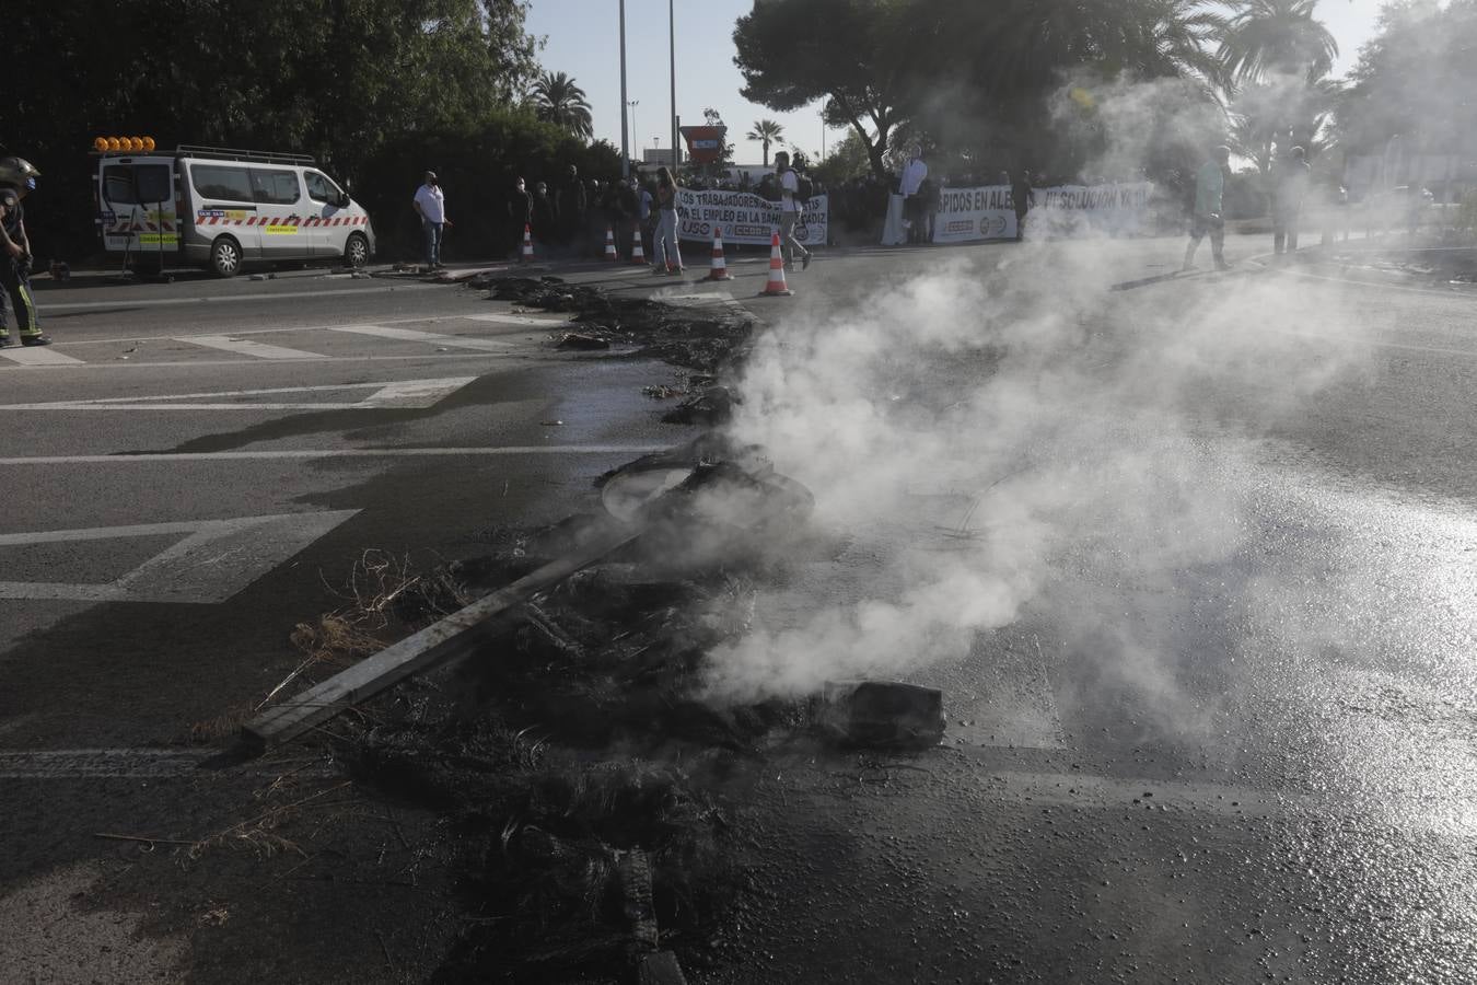
[(916, 684), (827, 681), (817, 722), (846, 746), (936, 746), (944, 738), (944, 694)]

